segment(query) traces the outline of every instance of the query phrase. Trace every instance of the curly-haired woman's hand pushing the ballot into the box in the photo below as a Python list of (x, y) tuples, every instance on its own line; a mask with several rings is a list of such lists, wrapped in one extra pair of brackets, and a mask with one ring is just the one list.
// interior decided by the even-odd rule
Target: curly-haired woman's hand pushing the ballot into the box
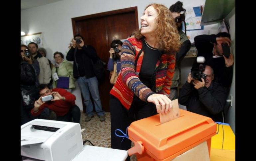
[(153, 94), (148, 97), (147, 99), (148, 102), (152, 102), (156, 105), (157, 112), (164, 114), (168, 113), (168, 111), (171, 111), (172, 106), (172, 101), (166, 96), (162, 94)]

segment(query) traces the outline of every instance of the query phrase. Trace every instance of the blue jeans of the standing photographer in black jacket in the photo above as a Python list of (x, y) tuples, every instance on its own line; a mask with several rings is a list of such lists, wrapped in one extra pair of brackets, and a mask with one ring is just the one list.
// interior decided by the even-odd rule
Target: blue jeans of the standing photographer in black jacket
[(103, 116), (105, 112), (102, 110), (100, 102), (97, 78), (86, 78), (85, 76), (78, 77), (77, 83), (83, 95), (87, 116), (93, 116), (93, 106), (90, 99), (90, 93), (94, 101), (96, 113), (98, 114), (98, 116)]

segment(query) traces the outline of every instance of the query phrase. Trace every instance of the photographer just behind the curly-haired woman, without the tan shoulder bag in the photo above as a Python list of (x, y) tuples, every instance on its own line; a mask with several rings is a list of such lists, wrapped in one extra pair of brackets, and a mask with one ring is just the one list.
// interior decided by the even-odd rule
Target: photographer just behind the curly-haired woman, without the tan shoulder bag
[(109, 71), (114, 70), (114, 61), (116, 62), (117, 74), (121, 69), (120, 57), (122, 53), (123, 42), (121, 40), (113, 40), (110, 44), (111, 48), (109, 50), (109, 60), (107, 68)]

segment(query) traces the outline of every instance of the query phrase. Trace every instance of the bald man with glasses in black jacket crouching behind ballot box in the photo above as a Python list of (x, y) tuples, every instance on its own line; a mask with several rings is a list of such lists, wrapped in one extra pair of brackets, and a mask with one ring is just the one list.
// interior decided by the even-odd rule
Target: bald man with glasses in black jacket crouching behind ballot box
[(213, 79), (213, 69), (208, 65), (205, 65), (199, 80), (193, 79), (189, 73), (178, 101), (181, 105), (187, 106), (190, 112), (210, 117), (213, 121), (223, 121), (222, 112), (227, 92)]

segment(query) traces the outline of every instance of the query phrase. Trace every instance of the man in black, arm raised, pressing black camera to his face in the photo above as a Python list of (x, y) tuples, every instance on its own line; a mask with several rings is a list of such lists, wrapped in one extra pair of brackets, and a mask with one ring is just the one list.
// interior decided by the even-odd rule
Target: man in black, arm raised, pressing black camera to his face
[[(215, 73), (215, 80), (228, 88), (232, 83), (234, 56), (232, 53), (223, 53), (222, 45), (230, 46), (230, 35), (226, 32), (217, 35), (199, 35), (194, 38), (198, 56), (205, 57), (205, 64), (210, 65)], [(228, 48), (229, 49), (229, 48)], [(229, 55), (230, 54), (230, 55)], [(229, 56), (228, 56), (229, 55)], [(198, 67), (194, 61), (192, 70)]]

